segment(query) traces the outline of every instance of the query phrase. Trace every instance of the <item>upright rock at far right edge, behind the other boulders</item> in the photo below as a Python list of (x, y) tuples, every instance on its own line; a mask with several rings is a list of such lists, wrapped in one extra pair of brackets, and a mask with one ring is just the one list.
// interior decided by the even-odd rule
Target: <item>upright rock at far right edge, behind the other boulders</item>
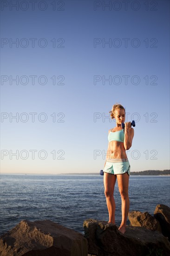
[(163, 236), (168, 237), (170, 241), (170, 207), (164, 204), (158, 204), (154, 211), (154, 217), (160, 223)]

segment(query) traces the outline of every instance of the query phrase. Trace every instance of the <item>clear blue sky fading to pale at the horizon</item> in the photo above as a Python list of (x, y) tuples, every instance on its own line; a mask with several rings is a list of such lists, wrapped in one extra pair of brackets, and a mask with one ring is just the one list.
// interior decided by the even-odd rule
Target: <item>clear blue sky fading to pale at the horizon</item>
[(116, 102), (131, 171), (170, 168), (170, 1), (24, 2), (1, 1), (1, 173), (99, 173)]

